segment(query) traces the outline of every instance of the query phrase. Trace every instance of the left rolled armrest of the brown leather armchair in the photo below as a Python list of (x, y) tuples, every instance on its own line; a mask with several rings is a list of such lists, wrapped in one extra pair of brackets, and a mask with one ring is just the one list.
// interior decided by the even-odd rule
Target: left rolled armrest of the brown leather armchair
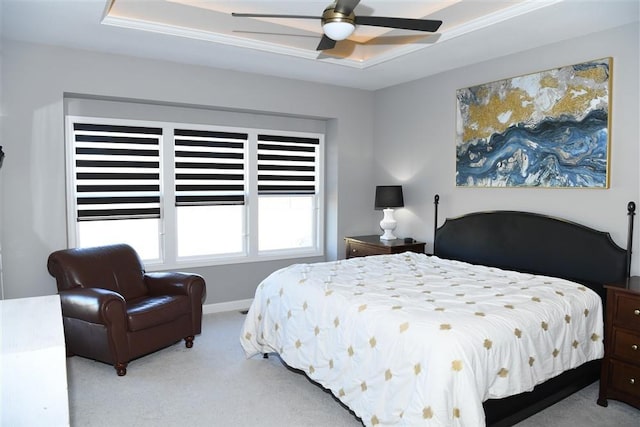
[(110, 324), (123, 320), (126, 304), (122, 295), (108, 289), (73, 288), (59, 292), (62, 315), (91, 323)]

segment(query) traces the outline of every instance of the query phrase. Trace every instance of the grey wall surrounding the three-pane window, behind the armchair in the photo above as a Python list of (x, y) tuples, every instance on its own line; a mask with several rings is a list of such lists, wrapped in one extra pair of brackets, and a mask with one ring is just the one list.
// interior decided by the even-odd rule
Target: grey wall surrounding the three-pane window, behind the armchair
[[(46, 260), (67, 242), (65, 93), (324, 120), (327, 258), (341, 257), (342, 237), (362, 229), (357, 213), (372, 203), (362, 192), (373, 176), (372, 93), (10, 40), (2, 48), (1, 135), (9, 153), (0, 175), (4, 298), (56, 292)], [(251, 298), (275, 269), (318, 259), (192, 271), (205, 276), (211, 304)]]

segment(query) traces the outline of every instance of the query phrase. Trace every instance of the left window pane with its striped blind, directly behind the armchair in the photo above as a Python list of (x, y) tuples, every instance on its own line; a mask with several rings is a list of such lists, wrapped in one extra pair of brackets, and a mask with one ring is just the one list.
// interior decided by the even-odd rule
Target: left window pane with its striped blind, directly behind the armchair
[(125, 241), (160, 259), (162, 129), (73, 123), (76, 245)]

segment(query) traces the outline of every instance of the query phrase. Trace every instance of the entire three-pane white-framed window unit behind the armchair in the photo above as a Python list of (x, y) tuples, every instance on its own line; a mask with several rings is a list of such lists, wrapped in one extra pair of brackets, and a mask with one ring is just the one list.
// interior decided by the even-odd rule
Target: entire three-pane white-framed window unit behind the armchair
[(317, 133), (67, 117), (69, 244), (147, 265), (322, 253)]

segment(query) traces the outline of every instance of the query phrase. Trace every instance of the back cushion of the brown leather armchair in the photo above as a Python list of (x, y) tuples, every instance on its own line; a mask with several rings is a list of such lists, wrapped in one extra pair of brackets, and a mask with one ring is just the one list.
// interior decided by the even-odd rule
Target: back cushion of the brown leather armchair
[(58, 291), (78, 287), (109, 289), (127, 301), (148, 294), (142, 261), (126, 244), (59, 251), (48, 264)]

